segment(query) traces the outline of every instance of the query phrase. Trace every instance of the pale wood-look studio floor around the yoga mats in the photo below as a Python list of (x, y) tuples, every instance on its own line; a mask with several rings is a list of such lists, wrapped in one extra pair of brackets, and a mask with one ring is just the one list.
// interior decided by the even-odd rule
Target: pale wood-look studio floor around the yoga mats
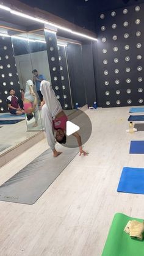
[[(86, 114), (89, 155), (77, 155), (34, 205), (0, 201), (0, 255), (101, 256), (115, 213), (143, 219), (143, 195), (118, 193), (117, 186), (124, 166), (144, 167), (142, 154), (129, 154), (144, 132), (126, 133), (127, 107)], [(0, 185), (47, 148), (43, 139), (1, 167)]]

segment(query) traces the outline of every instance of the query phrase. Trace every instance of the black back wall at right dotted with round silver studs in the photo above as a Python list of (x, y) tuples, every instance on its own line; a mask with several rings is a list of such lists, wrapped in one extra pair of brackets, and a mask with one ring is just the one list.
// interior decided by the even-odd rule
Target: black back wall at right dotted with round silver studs
[(96, 61), (99, 104), (102, 107), (143, 104), (144, 4), (101, 14)]

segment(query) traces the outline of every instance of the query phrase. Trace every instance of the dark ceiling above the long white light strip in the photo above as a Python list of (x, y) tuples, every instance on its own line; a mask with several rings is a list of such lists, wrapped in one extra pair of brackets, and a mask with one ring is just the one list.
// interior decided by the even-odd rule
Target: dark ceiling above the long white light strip
[(51, 12), (78, 26), (96, 31), (99, 12), (143, 3), (144, 0), (20, 0), (32, 7)]

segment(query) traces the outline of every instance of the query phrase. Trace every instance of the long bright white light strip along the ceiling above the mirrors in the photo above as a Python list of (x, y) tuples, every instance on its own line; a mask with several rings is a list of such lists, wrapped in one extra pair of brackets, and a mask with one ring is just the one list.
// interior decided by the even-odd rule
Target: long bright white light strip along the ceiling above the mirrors
[(95, 37), (90, 37), (89, 35), (85, 35), (85, 34), (82, 34), (82, 33), (76, 32), (76, 31), (72, 31), (71, 29), (68, 29), (67, 27), (59, 26), (59, 25), (51, 23), (49, 21), (41, 20), (40, 18), (34, 18), (34, 17), (32, 17), (30, 15), (27, 15), (25, 13), (21, 13), (21, 12), (17, 12), (15, 10), (12, 10), (9, 7), (6, 7), (4, 5), (0, 5), (0, 9), (7, 10), (7, 11), (9, 11), (10, 13), (12, 13), (14, 15), (18, 15), (20, 17), (27, 18), (29, 20), (37, 21), (37, 22), (43, 23), (43, 24), (48, 24), (50, 26), (56, 27), (57, 29), (62, 29), (63, 31), (70, 32), (71, 34), (74, 34), (74, 35), (79, 35), (81, 37), (85, 37), (87, 39), (97, 41), (97, 39)]

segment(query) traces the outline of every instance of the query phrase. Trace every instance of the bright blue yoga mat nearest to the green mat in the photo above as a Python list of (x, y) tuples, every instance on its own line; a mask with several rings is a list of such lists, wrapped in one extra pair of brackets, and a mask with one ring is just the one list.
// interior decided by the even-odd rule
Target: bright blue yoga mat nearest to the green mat
[(123, 167), (117, 191), (144, 194), (144, 169)]

